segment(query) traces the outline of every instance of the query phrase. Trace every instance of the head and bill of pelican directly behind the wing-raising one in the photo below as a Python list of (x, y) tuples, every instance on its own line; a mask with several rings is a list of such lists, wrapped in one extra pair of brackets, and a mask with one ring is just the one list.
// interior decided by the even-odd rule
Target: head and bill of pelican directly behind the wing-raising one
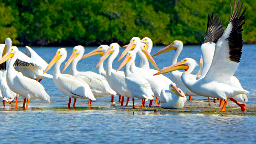
[(153, 56), (158, 56), (159, 54), (163, 54), (165, 52), (169, 52), (171, 50), (178, 50), (178, 51), (182, 51), (183, 49), (183, 43), (182, 41), (174, 41), (172, 42), (170, 45), (167, 45), (167, 47), (161, 49), (160, 51), (158, 51), (156, 54), (154, 54)]

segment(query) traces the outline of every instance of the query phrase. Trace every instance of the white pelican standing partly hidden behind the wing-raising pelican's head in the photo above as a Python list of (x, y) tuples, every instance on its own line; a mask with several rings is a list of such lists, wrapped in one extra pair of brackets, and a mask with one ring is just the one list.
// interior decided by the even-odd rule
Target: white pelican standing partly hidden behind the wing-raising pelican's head
[[(176, 64), (177, 63), (177, 60), (178, 60), (178, 56), (180, 55), (181, 51), (183, 49), (183, 43), (182, 41), (174, 41), (173, 43), (171, 43), (170, 45), (168, 45), (167, 47), (161, 49), (160, 51), (158, 51), (156, 54), (154, 54), (153, 56), (158, 56), (159, 54), (163, 54), (165, 52), (169, 52), (171, 50), (175, 50), (175, 54), (174, 56), (172, 57), (172, 60), (171, 60), (171, 64)], [(183, 72), (181, 71), (172, 71), (170, 73), (170, 80), (172, 82), (174, 82), (178, 88), (180, 88), (184, 93), (185, 95), (189, 96), (189, 100), (191, 100), (191, 96), (195, 97), (195, 96), (198, 96), (196, 95), (195, 93), (191, 92), (182, 82), (181, 80), (181, 75), (182, 75)], [(190, 74), (189, 75), (189, 78), (191, 80), (195, 80), (196, 79), (196, 75), (192, 75)]]

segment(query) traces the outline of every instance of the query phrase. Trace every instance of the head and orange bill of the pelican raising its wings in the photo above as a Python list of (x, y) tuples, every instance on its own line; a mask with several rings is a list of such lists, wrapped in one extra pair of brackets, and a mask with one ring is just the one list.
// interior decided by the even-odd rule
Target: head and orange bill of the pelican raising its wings
[(168, 73), (171, 71), (176, 71), (176, 70), (181, 70), (184, 69), (185, 71), (187, 71), (189, 69), (189, 67), (193, 67), (193, 69), (198, 66), (197, 62), (192, 59), (192, 58), (185, 58), (184, 60), (177, 62), (176, 64), (173, 64), (169, 67), (164, 67), (161, 71), (159, 71), (158, 73), (154, 74), (154, 75), (160, 75), (163, 73)]

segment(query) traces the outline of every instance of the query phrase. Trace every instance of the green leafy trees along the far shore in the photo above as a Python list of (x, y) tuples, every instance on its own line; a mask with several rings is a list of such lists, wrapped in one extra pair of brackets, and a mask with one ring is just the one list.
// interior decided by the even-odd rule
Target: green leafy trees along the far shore
[[(155, 44), (181, 40), (200, 44), (208, 14), (224, 27), (233, 0), (1, 0), (0, 41), (16, 45), (99, 45), (150, 37)], [(256, 3), (241, 0), (243, 41), (256, 42)]]

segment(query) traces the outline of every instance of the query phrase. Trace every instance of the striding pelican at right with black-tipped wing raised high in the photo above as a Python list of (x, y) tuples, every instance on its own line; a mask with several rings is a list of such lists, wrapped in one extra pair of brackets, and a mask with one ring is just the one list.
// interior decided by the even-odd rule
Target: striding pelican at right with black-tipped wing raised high
[[(230, 5), (231, 7), (231, 5)], [(236, 8), (234, 4), (234, 11), (231, 13), (230, 21), (228, 27), (223, 32), (222, 36), (219, 38), (215, 45), (215, 51), (210, 69), (207, 71), (205, 76), (204, 68), (202, 72), (202, 78), (199, 80), (189, 80), (189, 74), (196, 67), (195, 60), (191, 58), (185, 58), (184, 60), (173, 64), (165, 69), (161, 70), (159, 73), (166, 73), (169, 71), (175, 71), (179, 69), (185, 69), (182, 74), (182, 82), (197, 95), (202, 95), (204, 97), (215, 97), (224, 99), (224, 105), (222, 110), (218, 112), (226, 112), (226, 105), (229, 98), (236, 95), (246, 95), (247, 90), (241, 88), (236, 88), (230, 86), (231, 77), (234, 75), (237, 67), (239, 66), (241, 58), (241, 50), (243, 47), (242, 39), (242, 26), (245, 24), (245, 10), (241, 13), (243, 8), (243, 3), (239, 9)], [(232, 8), (231, 8), (232, 9)], [(240, 15), (241, 14), (241, 15)], [(204, 51), (203, 51), (204, 59)], [(205, 67), (205, 64), (204, 64)]]

